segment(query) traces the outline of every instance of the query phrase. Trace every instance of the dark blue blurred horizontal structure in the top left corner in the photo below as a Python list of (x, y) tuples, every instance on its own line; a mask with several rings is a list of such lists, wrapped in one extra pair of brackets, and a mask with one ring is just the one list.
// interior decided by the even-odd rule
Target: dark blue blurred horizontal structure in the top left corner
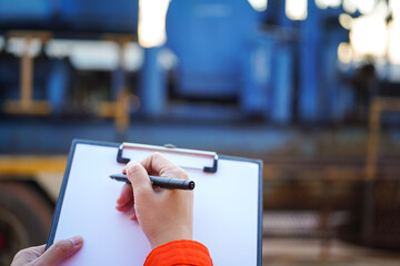
[(0, 0), (0, 31), (48, 30), (68, 38), (136, 33), (138, 3), (139, 0)]

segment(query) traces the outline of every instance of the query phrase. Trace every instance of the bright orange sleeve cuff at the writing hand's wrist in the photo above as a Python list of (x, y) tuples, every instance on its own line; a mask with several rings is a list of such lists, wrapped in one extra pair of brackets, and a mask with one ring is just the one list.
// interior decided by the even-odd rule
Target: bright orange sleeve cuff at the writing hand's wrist
[(143, 266), (212, 266), (208, 248), (194, 241), (173, 241), (151, 250)]

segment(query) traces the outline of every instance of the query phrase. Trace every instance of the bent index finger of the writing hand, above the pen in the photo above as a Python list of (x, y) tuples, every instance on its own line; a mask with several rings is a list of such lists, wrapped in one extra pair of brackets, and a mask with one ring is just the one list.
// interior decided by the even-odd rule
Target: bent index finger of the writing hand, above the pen
[(144, 166), (148, 173), (156, 172), (160, 176), (188, 180), (188, 174), (181, 167), (158, 152), (144, 158), (141, 164)]

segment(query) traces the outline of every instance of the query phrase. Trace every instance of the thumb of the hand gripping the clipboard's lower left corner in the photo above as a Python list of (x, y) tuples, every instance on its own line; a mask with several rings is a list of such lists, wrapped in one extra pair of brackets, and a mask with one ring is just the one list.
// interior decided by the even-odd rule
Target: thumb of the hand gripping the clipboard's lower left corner
[(80, 236), (58, 241), (39, 257), (36, 265), (56, 265), (76, 254), (82, 247), (82, 244), (83, 239)]

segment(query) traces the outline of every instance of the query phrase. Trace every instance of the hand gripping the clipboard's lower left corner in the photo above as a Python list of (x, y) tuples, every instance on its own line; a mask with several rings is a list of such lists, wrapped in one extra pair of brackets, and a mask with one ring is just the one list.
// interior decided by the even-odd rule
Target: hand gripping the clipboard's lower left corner
[(29, 247), (17, 253), (11, 266), (57, 265), (76, 254), (83, 244), (80, 236), (56, 242), (44, 252), (46, 245)]

